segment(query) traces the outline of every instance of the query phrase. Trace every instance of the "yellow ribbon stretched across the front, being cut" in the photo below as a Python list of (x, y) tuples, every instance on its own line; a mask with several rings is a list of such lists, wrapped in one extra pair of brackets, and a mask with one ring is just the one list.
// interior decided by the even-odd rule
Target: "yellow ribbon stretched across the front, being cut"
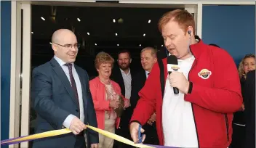
[[(129, 144), (131, 146), (139, 147), (139, 148), (153, 148), (153, 147), (145, 145), (145, 144), (135, 144), (133, 141), (130, 141), (129, 139), (125, 139), (122, 136), (116, 135), (115, 133), (111, 133), (108, 131), (104, 131), (100, 128), (95, 128), (93, 126), (87, 126), (87, 128), (90, 128), (93, 131), (97, 131), (97, 133), (103, 134), (104, 136), (108, 136), (108, 138), (115, 139), (124, 144)], [(61, 130), (47, 131), (44, 133), (36, 133), (31, 136), (25, 136), (25, 137), (21, 137), (18, 139), (13, 139), (12, 141), (4, 141), (4, 142), (1, 142), (1, 144), (12, 143), (12, 142), (17, 142), (17, 141), (29, 141), (29, 140), (33, 140), (33, 139), (41, 139), (41, 138), (46, 138), (46, 137), (50, 137), (50, 136), (62, 135), (65, 133), (71, 133), (71, 130), (69, 130), (68, 128), (64, 128)]]

